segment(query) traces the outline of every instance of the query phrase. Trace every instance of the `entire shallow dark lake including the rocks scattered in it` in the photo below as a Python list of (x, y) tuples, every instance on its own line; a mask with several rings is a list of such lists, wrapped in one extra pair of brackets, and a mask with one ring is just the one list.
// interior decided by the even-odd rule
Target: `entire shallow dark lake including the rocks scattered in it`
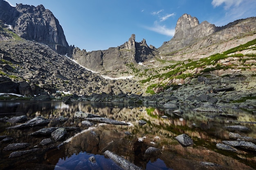
[(0, 101), (0, 169), (255, 169), (256, 109), (197, 108)]

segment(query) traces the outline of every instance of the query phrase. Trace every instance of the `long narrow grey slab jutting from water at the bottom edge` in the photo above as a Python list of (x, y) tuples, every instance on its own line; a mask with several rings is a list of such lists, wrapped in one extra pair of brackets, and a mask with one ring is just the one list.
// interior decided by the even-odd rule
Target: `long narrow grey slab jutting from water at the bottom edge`
[(112, 159), (115, 163), (117, 163), (124, 170), (142, 170), (142, 168), (139, 168), (138, 166), (134, 165), (133, 163), (127, 161), (126, 159), (124, 159), (122, 157), (119, 157), (118, 155), (114, 154), (113, 152), (110, 152), (109, 150), (106, 150), (104, 152), (104, 155), (106, 155), (110, 159)]

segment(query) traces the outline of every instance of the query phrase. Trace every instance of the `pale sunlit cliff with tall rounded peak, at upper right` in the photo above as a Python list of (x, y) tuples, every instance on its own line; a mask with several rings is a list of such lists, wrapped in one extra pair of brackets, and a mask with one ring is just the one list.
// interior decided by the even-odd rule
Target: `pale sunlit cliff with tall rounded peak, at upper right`
[(166, 60), (188, 60), (222, 53), (256, 38), (256, 17), (236, 20), (216, 27), (207, 21), (199, 24), (191, 15), (182, 15), (173, 38), (159, 47)]

